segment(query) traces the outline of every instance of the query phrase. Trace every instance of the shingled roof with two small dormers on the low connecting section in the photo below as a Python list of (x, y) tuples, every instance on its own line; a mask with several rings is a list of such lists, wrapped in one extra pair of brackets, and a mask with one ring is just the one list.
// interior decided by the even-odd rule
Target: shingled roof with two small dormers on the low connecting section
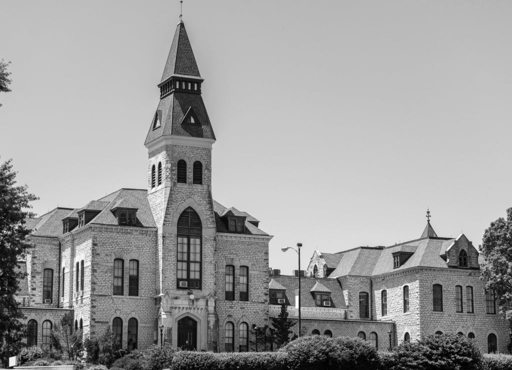
[[(295, 306), (295, 289), (298, 289), (298, 279), (295, 276), (274, 275), (272, 280), (286, 288), (287, 304)], [(272, 281), (271, 280), (271, 281)], [(311, 289), (317, 282), (331, 291), (331, 308), (347, 308), (343, 296), (342, 285), (337, 279), (301, 277), (301, 307), (316, 307), (314, 294)]]

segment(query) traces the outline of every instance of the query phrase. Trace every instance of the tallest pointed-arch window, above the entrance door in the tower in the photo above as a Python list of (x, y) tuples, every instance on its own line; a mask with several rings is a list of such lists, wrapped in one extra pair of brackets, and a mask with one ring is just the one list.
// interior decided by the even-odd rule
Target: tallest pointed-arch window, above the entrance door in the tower
[(178, 288), (201, 289), (201, 234), (201, 219), (188, 207), (178, 219)]

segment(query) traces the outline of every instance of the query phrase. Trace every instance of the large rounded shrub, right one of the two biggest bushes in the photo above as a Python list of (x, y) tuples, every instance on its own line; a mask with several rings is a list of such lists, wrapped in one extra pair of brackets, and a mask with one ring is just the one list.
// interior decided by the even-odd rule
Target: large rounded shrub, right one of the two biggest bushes
[(483, 366), (482, 352), (475, 340), (456, 334), (434, 334), (402, 343), (392, 354), (391, 369), (479, 370)]

